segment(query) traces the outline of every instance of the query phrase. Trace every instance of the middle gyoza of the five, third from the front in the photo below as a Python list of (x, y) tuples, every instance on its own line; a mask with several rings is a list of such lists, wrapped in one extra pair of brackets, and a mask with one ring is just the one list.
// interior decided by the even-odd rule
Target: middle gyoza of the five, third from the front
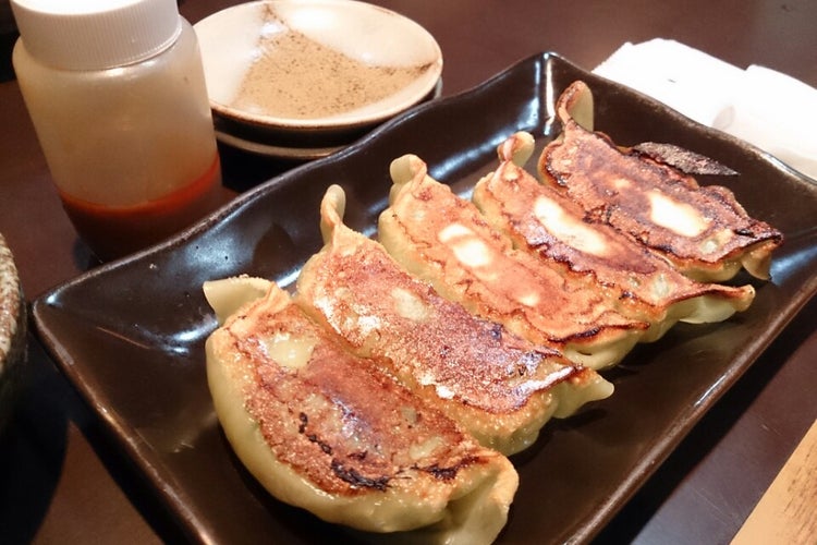
[(648, 325), (617, 312), (605, 289), (582, 276), (565, 281), (515, 251), (476, 206), (432, 180), (418, 157), (392, 161), (391, 175), (380, 241), (446, 298), (596, 370), (619, 362), (644, 335)]

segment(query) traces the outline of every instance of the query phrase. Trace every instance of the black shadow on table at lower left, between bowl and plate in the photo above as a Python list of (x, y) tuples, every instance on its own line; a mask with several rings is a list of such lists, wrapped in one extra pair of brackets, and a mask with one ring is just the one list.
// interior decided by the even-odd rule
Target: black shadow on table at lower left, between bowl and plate
[(21, 397), (7, 427), (0, 431), (0, 543), (36, 540), (60, 484), (72, 424), (86, 436), (159, 540), (184, 541), (144, 476), (127, 462), (41, 344), (29, 338), (28, 350)]

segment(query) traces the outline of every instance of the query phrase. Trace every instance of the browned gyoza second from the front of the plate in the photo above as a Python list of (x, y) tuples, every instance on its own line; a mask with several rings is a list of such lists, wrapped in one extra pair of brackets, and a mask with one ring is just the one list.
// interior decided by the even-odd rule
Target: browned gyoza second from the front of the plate
[(343, 190), (330, 187), (321, 203), (326, 244), (304, 266), (295, 301), (483, 445), (520, 451), (551, 415), (612, 392), (592, 370), (441, 298), (344, 226), (344, 206)]

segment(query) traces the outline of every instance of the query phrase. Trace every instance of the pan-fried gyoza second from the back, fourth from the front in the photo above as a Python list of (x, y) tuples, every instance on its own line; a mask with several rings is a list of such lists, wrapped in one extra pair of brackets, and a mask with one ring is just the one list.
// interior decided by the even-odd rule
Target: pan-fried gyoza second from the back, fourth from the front
[(522, 168), (533, 148), (528, 133), (500, 145), (500, 166), (476, 184), (474, 204), (515, 247), (539, 256), (565, 279), (576, 274), (593, 279), (613, 293), (622, 314), (649, 322), (642, 340), (659, 338), (678, 320), (720, 322), (749, 306), (752, 286), (696, 282), (612, 227), (584, 221), (581, 206)]

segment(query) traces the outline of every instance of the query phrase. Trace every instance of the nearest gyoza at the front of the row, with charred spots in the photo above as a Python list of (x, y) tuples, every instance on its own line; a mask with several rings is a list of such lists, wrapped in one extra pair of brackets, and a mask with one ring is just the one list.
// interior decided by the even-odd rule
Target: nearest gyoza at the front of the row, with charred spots
[(519, 483), (507, 458), (346, 352), (275, 283), (204, 289), (223, 320), (207, 340), (216, 413), (275, 497), (329, 522), (400, 532), (395, 543), (497, 536)]

